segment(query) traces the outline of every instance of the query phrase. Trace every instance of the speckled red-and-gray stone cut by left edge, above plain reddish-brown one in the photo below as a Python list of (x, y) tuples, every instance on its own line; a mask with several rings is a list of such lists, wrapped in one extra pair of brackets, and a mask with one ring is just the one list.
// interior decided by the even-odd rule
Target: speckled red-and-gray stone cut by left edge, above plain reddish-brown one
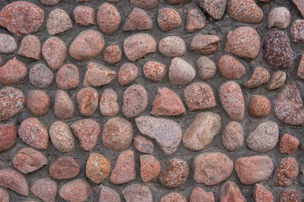
[(5, 121), (23, 110), (25, 95), (17, 88), (4, 87), (0, 90), (0, 103), (0, 121)]

